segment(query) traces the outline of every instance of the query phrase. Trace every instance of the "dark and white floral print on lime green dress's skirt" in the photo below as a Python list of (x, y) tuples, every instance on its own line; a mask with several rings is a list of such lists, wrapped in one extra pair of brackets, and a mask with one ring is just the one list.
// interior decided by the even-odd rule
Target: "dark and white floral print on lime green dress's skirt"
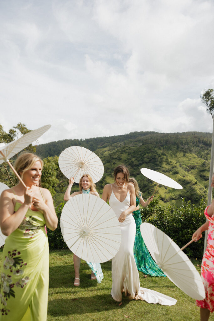
[[(17, 250), (13, 250), (12, 252), (8, 252), (8, 256), (5, 256), (5, 260), (3, 263), (3, 267), (5, 273), (1, 273), (1, 280), (0, 280), (0, 289), (2, 288), (2, 293), (0, 294), (1, 303), (3, 308), (1, 308), (1, 314), (7, 315), (10, 310), (6, 308), (7, 300), (10, 297), (15, 298), (15, 291), (14, 286), (23, 288), (27, 282), (29, 282), (29, 277), (26, 276), (25, 278), (20, 278), (16, 283), (12, 283), (12, 275), (21, 276), (23, 274), (23, 270), (21, 269), (22, 266), (27, 265), (24, 263), (21, 256), (21, 252)], [(9, 271), (7, 271), (9, 270)], [(10, 274), (11, 273), (11, 274)]]

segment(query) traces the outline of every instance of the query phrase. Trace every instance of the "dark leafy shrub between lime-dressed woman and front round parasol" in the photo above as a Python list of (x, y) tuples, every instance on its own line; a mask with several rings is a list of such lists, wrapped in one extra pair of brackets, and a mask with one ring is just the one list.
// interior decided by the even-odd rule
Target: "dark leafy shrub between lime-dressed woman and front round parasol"
[(56, 208), (56, 215), (58, 217), (58, 226), (56, 230), (52, 231), (47, 229), (47, 236), (48, 236), (48, 242), (49, 242), (49, 248), (50, 249), (61, 249), (61, 248), (67, 248), (66, 243), (64, 242), (61, 228), (60, 228), (60, 216), (62, 213), (64, 207), (64, 203), (59, 204)]

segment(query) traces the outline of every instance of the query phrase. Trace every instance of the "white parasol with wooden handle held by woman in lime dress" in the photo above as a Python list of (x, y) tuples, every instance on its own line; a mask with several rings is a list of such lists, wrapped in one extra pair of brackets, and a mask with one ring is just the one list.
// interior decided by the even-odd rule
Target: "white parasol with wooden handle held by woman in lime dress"
[(38, 129), (32, 130), (29, 133), (23, 135), (22, 137), (18, 138), (17, 140), (14, 140), (11, 143), (0, 144), (0, 164), (2, 164), (4, 161), (8, 163), (10, 168), (13, 170), (15, 175), (19, 178), (21, 183), (25, 186), (24, 182), (16, 172), (16, 170), (13, 168), (12, 164), (9, 162), (9, 158), (13, 157), (15, 154), (20, 152), (22, 149), (26, 148), (28, 145), (30, 145), (32, 142), (37, 140), (42, 134), (44, 134), (51, 125), (42, 126)]

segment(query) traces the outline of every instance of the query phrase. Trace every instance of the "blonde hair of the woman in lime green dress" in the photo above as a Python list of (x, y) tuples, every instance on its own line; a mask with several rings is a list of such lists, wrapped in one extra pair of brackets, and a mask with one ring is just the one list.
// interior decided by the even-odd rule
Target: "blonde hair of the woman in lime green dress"
[(17, 173), (23, 178), (24, 173), (29, 170), (36, 161), (40, 161), (41, 167), (43, 168), (43, 161), (42, 159), (33, 154), (33, 153), (22, 153), (17, 160), (15, 161), (14, 168)]

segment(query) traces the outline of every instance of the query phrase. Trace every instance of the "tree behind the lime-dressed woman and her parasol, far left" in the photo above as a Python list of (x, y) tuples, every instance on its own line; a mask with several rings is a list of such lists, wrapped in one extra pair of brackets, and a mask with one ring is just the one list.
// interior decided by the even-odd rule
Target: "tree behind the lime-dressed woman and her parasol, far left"
[[(4, 131), (3, 126), (0, 124), (0, 143), (8, 144), (13, 140), (21, 137), (24, 134), (30, 132), (30, 129), (25, 124), (18, 123), (8, 130), (8, 133)], [(36, 152), (36, 147), (31, 144), (24, 149), (26, 152)], [(18, 155), (17, 155), (18, 156)], [(13, 160), (10, 160), (13, 163)], [(17, 178), (13, 172), (8, 168), (6, 162), (0, 165), (0, 181), (4, 182), (9, 187), (14, 186), (17, 183)]]

